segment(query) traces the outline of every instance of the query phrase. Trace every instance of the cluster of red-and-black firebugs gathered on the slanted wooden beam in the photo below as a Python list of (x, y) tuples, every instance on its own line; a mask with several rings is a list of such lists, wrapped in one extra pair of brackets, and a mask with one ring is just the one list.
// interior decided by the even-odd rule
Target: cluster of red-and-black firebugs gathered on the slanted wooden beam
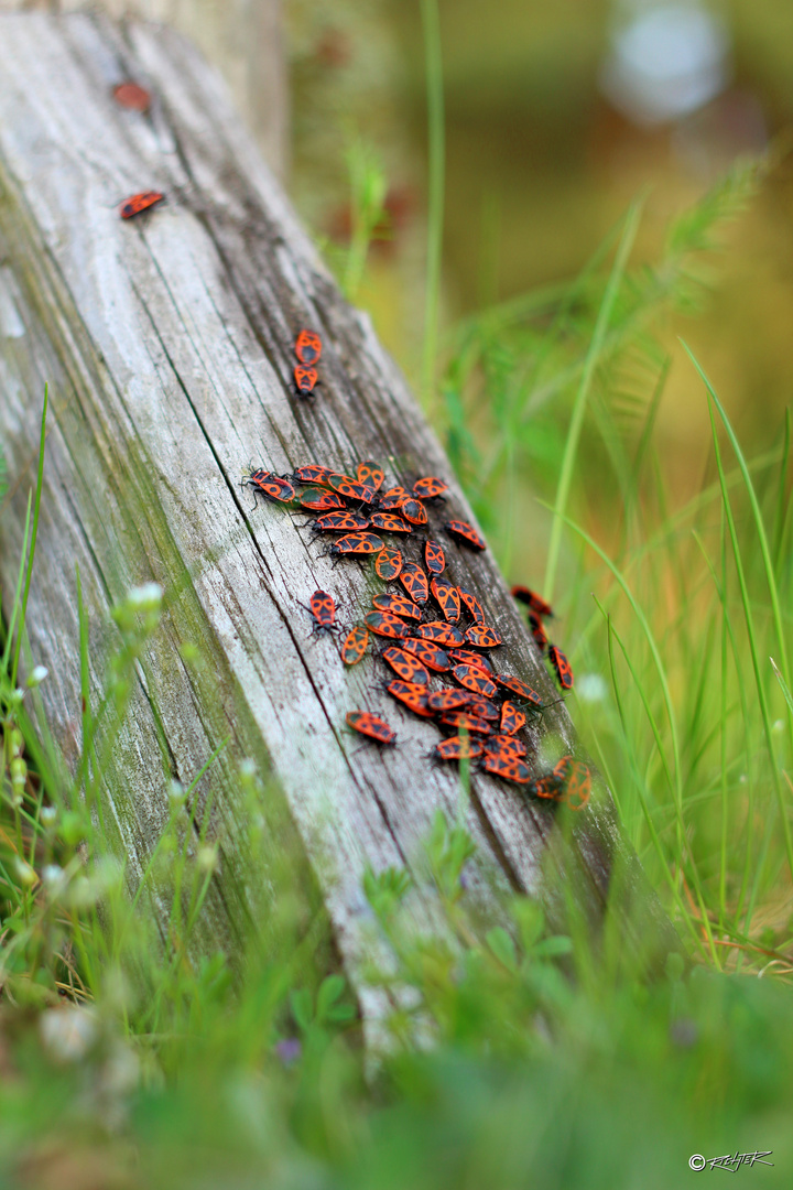
[[(316, 363), (319, 336), (301, 331), (295, 353), (302, 367)], [(358, 464), (354, 475), (307, 464), (290, 475), (252, 470), (245, 483), (265, 500), (306, 513), (311, 533), (328, 540), (325, 553), (334, 564), (346, 558), (373, 562), (375, 574), (388, 585), (373, 596), (361, 622), (344, 635), (341, 660), (358, 665), (377, 645), (389, 671), (384, 690), (405, 710), (432, 720), (445, 735), (430, 752), (433, 760), (468, 762), (535, 797), (565, 802), (575, 810), (586, 806), (591, 774), (572, 756), (562, 757), (553, 771), (531, 776), (530, 745), (521, 733), (545, 704), (523, 678), (497, 671), (491, 653), (502, 638), (486, 622), (474, 593), (452, 581), (447, 547), (430, 536), (429, 511), (442, 505), (448, 491), (442, 480), (424, 476), (410, 488), (386, 488), (380, 464), (367, 461)], [(485, 549), (467, 521), (446, 520), (443, 531), (459, 546)], [(398, 544), (388, 544), (386, 536), (396, 537)], [(407, 556), (408, 547), (414, 558)], [(512, 594), (528, 606), (534, 639), (547, 651), (562, 691), (569, 690), (573, 674), (567, 658), (548, 644), (543, 630), (552, 609), (525, 587), (514, 588)], [(307, 610), (313, 633), (340, 633), (328, 591), (314, 591)], [(397, 743), (391, 725), (372, 712), (351, 710), (347, 726), (379, 745)]]

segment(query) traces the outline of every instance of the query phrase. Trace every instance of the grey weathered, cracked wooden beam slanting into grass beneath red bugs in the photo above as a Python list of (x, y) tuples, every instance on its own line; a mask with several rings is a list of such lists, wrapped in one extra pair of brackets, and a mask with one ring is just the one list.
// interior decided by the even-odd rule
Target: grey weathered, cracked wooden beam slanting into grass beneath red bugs
[[(149, 115), (114, 105), (111, 88), (124, 77), (151, 88)], [(121, 200), (149, 188), (164, 192), (166, 206), (121, 220)], [(228, 738), (200, 785), (213, 796), (222, 853), (207, 946), (229, 937), (233, 946), (245, 913), (247, 873), (235, 856), (245, 757), (283, 791), (359, 984), (365, 868), (411, 866), (439, 809), (461, 814), (478, 845), (468, 896), (491, 915), (499, 889), (541, 891), (549, 862), (594, 922), (619, 858), (624, 903), (641, 904), (642, 928), (661, 948), (674, 945), (608, 791), (565, 838), (553, 808), (482, 772), (461, 802), (457, 774), (423, 756), (438, 741), (424, 721), (390, 710), (411, 744), (388, 752), (345, 734), (347, 710), (385, 704), (379, 671), (371, 657), (345, 670), (329, 641), (309, 638), (303, 606), (323, 588), (353, 622), (380, 584), (355, 564), (332, 569), (283, 511), (252, 511), (240, 494), (243, 468), (251, 458), (278, 474), (307, 462), (350, 470), (382, 459), (394, 482), (448, 480), (451, 514), (472, 514), (369, 320), (341, 299), (218, 79), (184, 40), (145, 24), (121, 32), (87, 14), (0, 18), (0, 428), (12, 481), (0, 518), (4, 603), (49, 382), (27, 631), (34, 662), (50, 671), (42, 688), (49, 727), (73, 765), (81, 743), (75, 562), (96, 697), (111, 606), (147, 580), (168, 595), (107, 775), (132, 870), (168, 813), (169, 779), (189, 782)], [(292, 386), (302, 326), (325, 344), (313, 401)], [(505, 641), (499, 668), (554, 700), (491, 555), (449, 540), (448, 559), (452, 578), (478, 595)], [(202, 666), (185, 664), (188, 645)], [(564, 706), (533, 728), (535, 744), (548, 731), (577, 746)], [(411, 904), (417, 927), (430, 926), (432, 891), (418, 887)]]

